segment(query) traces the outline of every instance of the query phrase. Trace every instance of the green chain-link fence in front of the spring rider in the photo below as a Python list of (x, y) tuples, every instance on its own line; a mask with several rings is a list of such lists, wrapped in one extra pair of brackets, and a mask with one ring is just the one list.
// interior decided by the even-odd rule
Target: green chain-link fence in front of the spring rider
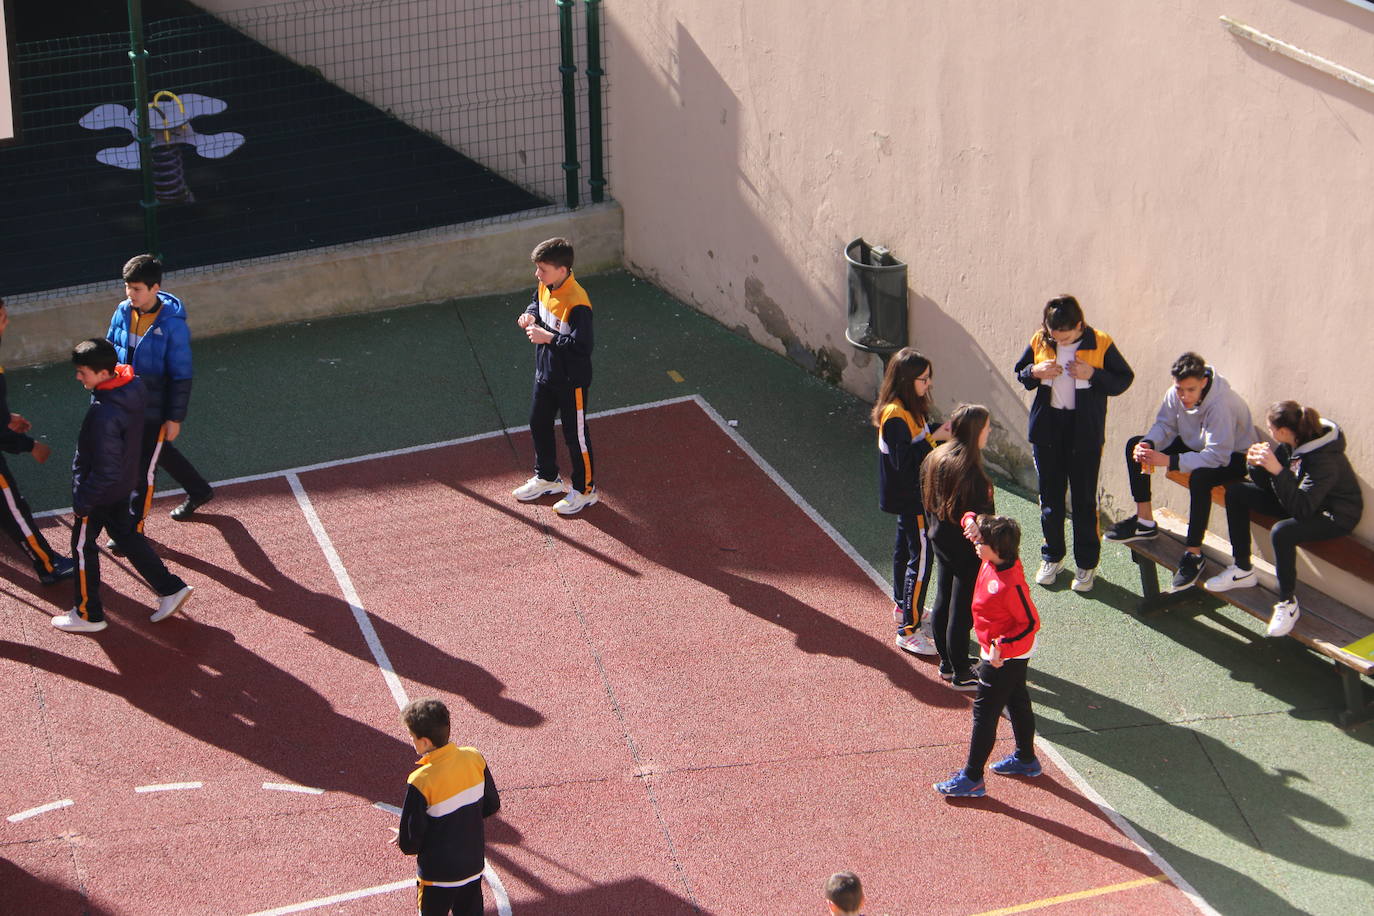
[[(150, 19), (146, 47), (170, 269), (566, 206), (554, 0), (294, 0)], [(0, 148), (0, 290), (111, 282), (146, 249), (128, 33), (16, 52), (22, 140)]]

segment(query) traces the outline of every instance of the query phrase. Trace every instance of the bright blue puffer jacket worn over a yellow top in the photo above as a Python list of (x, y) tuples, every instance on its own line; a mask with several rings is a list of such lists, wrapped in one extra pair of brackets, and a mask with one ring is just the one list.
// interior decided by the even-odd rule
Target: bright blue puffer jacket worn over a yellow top
[(147, 386), (147, 419), (181, 423), (191, 404), (191, 328), (185, 324), (181, 299), (159, 291), (158, 301), (162, 305), (139, 346), (129, 347), (133, 305), (128, 299), (114, 309), (104, 336), (114, 345), (120, 363), (132, 365), (133, 374)]

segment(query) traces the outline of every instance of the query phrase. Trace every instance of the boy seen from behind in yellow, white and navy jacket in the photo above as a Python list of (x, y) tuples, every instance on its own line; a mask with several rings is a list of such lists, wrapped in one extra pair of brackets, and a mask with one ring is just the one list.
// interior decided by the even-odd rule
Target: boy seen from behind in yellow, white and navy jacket
[(407, 780), (392, 842), (416, 857), (420, 916), (482, 916), (482, 821), (502, 808), (492, 772), (477, 748), (449, 743), (448, 707), (441, 702), (407, 703), (401, 721), (423, 757)]

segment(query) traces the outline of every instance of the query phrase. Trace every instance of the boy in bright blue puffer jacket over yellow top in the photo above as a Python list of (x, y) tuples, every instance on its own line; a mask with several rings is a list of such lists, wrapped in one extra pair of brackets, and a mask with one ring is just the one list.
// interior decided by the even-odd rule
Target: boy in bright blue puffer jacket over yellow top
[(191, 331), (185, 324), (185, 306), (162, 291), (162, 262), (151, 254), (139, 254), (124, 265), (124, 294), (128, 298), (115, 306), (104, 336), (114, 345), (120, 363), (132, 365), (148, 389), (135, 503), (139, 531), (143, 531), (159, 467), (185, 490), (185, 500), (172, 509), (177, 522), (187, 520), (214, 499), (214, 490), (172, 445), (191, 402)]

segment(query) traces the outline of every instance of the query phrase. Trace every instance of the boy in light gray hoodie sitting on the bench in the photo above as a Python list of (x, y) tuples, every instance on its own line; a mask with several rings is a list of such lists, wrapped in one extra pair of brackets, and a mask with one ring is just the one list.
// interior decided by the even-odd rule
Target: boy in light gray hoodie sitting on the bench
[(1149, 474), (1157, 467), (1189, 472), (1189, 531), (1171, 592), (1202, 577), (1202, 534), (1212, 515), (1212, 488), (1245, 477), (1245, 452), (1254, 442), (1250, 408), (1197, 353), (1169, 369), (1173, 385), (1145, 435), (1125, 444), (1127, 475), (1136, 514), (1113, 525), (1106, 538), (1129, 542), (1156, 537)]

